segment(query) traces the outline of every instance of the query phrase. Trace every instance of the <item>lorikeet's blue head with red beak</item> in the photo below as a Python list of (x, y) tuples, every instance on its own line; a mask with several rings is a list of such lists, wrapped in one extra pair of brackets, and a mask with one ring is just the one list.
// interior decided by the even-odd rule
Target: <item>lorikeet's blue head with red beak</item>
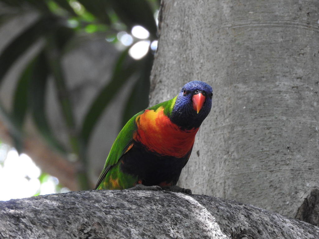
[(198, 128), (211, 111), (211, 86), (202, 81), (185, 84), (178, 93), (172, 109), (171, 121), (183, 128)]

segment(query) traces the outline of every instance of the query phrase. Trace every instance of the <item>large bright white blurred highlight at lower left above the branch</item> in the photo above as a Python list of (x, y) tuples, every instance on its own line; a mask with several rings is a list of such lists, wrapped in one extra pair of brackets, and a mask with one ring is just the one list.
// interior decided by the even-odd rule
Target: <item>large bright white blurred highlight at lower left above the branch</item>
[[(0, 200), (27, 198), (38, 194), (57, 193), (58, 179), (46, 176), (41, 184), (41, 170), (26, 154), (12, 148), (7, 153), (0, 144)], [(6, 157), (3, 157), (6, 155)], [(69, 191), (63, 188), (61, 192)]]

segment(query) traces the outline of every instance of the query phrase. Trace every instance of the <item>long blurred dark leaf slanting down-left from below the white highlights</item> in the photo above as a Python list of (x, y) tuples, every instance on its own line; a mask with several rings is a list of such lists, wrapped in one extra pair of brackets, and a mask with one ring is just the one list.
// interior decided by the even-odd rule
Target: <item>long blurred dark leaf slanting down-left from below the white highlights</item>
[(130, 62), (125, 68), (124, 65), (127, 57), (128, 49), (126, 49), (117, 60), (113, 76), (108, 84), (100, 91), (99, 95), (95, 98), (93, 104), (85, 115), (81, 130), (81, 135), (85, 144), (87, 144), (89, 141), (90, 135), (101, 114), (103, 113), (103, 110), (137, 69), (136, 61)]

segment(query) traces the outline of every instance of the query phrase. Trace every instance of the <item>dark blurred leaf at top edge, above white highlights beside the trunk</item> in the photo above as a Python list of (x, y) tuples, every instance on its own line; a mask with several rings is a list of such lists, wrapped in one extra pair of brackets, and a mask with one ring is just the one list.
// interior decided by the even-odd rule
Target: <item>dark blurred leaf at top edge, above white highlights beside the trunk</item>
[(141, 25), (156, 38), (157, 26), (154, 13), (146, 0), (111, 0), (113, 9), (129, 28)]

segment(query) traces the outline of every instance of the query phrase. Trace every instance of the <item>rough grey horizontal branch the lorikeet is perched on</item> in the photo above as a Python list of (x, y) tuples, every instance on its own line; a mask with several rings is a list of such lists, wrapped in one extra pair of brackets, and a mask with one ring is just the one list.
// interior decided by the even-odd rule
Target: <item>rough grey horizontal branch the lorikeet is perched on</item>
[(205, 195), (81, 191), (0, 202), (0, 238), (319, 238), (319, 228)]

